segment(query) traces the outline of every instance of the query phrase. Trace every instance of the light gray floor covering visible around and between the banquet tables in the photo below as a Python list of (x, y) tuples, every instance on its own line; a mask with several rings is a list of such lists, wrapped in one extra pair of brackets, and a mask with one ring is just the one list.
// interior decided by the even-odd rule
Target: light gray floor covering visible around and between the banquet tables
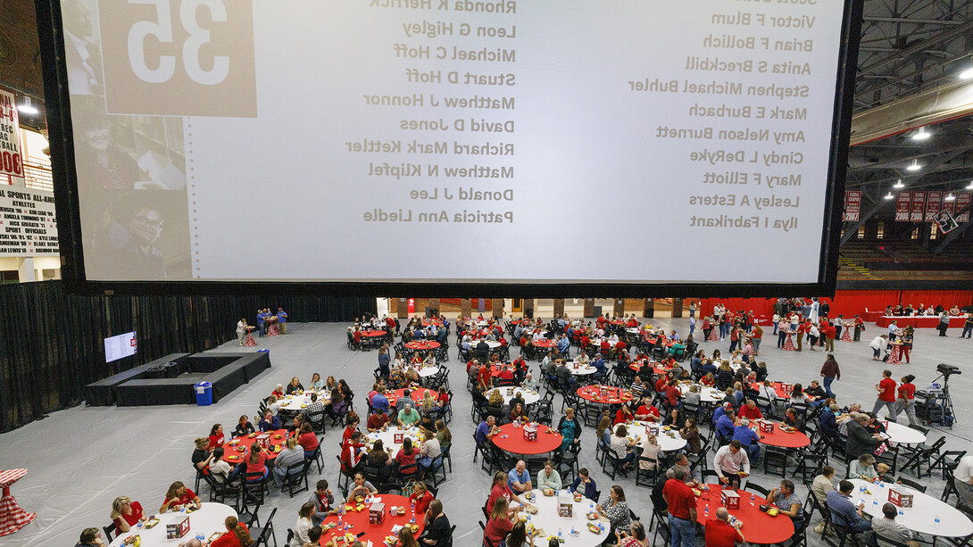
[[(644, 319), (643, 319), (644, 320)], [(676, 328), (685, 334), (688, 319), (659, 319), (667, 329)], [(190, 455), (193, 439), (205, 436), (214, 422), (222, 422), (230, 429), (241, 414), (253, 416), (258, 401), (270, 394), (276, 383), (287, 383), (297, 376), (308, 382), (311, 373), (334, 375), (345, 379), (359, 394), (363, 406), (366, 391), (372, 384), (372, 370), (376, 367), (377, 351), (354, 352), (345, 347), (345, 324), (291, 323), (287, 336), (258, 339), (260, 347), (270, 349), (272, 368), (257, 380), (237, 389), (231, 396), (210, 407), (143, 407), (117, 408), (79, 406), (52, 414), (48, 419), (30, 423), (0, 435), (0, 469), (26, 467), (29, 474), (14, 485), (13, 493), (28, 511), (36, 512), (34, 523), (17, 533), (0, 538), (0, 545), (73, 545), (80, 531), (86, 527), (102, 527), (109, 523), (112, 500), (125, 494), (141, 501), (147, 511), (158, 510), (167, 486), (176, 480), (191, 483)], [(876, 329), (870, 325), (859, 344), (837, 343), (836, 356), (842, 367), (842, 381), (835, 383), (839, 401), (860, 401), (871, 408), (875, 401), (874, 385), (885, 368), (871, 360), (868, 341)], [(897, 379), (906, 374), (917, 376), (919, 388), (936, 376), (937, 363), (950, 363), (964, 369), (954, 376), (951, 389), (958, 422), (952, 430), (934, 430), (930, 436), (947, 437), (947, 448), (973, 450), (973, 371), (970, 370), (970, 349), (973, 341), (960, 340), (954, 329), (948, 338), (938, 338), (933, 329), (920, 329), (916, 334), (916, 349), (911, 365), (893, 367)], [(711, 352), (719, 347), (724, 353), (729, 339), (720, 343), (706, 343)], [(235, 341), (220, 346), (218, 351), (238, 351)], [(824, 358), (823, 351), (782, 351), (775, 348), (775, 338), (764, 342), (762, 359), (768, 362), (773, 380), (809, 383), (817, 378)], [(516, 354), (516, 350), (515, 350)], [(477, 521), (482, 519), (480, 507), (486, 499), (489, 478), (471, 465), (471, 431), (475, 424), (469, 418), (470, 395), (465, 390), (463, 365), (456, 361), (455, 349), (450, 382), (456, 394), (455, 418), (450, 424), (453, 433), (453, 472), (442, 485), (439, 496), (446, 505), (450, 521), (457, 525), (456, 545), (479, 545), (481, 532)], [(536, 370), (537, 364), (531, 367)], [(560, 408), (556, 399), (556, 411)], [(556, 418), (557, 419), (557, 418)], [(900, 421), (904, 421), (902, 417)], [(335, 455), (339, 452), (340, 433), (330, 430), (325, 438), (327, 468), (323, 476), (332, 485), (337, 483)], [(599, 470), (595, 462), (595, 435), (588, 428), (583, 435), (582, 463), (593, 469), (593, 476), (601, 490), (612, 481)], [(316, 469), (315, 469), (316, 471)], [(844, 472), (844, 468), (841, 472)], [(311, 480), (319, 477), (312, 472)], [(779, 478), (755, 472), (752, 481), (765, 487), (776, 486)], [(926, 479), (929, 491), (939, 496), (943, 481)], [(648, 491), (636, 488), (633, 479), (619, 478), (615, 483), (628, 492), (631, 508), (648, 522), (651, 501)], [(802, 496), (807, 491), (798, 487)], [(293, 528), (297, 512), (307, 494), (293, 499), (274, 492), (270, 505), (278, 508), (275, 526), (278, 544), (285, 539), (287, 528)], [(264, 510), (262, 515), (266, 515)], [(814, 520), (816, 522), (816, 519)], [(811, 537), (811, 545), (820, 545)]]

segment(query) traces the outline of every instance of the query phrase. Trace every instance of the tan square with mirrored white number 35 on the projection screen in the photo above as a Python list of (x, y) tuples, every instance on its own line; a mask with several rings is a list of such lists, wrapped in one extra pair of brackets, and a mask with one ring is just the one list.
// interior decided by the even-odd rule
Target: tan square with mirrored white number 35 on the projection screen
[(256, 117), (253, 6), (99, 0), (112, 114)]

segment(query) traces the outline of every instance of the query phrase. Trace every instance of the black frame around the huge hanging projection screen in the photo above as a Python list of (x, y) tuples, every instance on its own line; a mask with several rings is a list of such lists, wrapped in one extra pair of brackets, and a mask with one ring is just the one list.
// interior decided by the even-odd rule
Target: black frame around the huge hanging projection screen
[[(85, 274), (84, 250), (75, 171), (74, 141), (67, 89), (67, 67), (61, 25), (60, 2), (37, 0), (37, 27), (41, 44), (51, 163), (54, 174), (54, 206), (60, 243), (61, 277), (65, 291), (74, 294), (105, 295), (335, 295), (485, 298), (524, 295), (534, 298), (593, 297), (658, 298), (682, 296), (764, 297), (834, 296), (838, 276), (838, 254), (844, 210), (845, 179), (854, 79), (864, 0), (845, 0), (841, 46), (831, 133), (826, 185), (824, 230), (818, 278), (813, 283), (427, 283), (427, 282), (328, 282), (328, 281), (100, 281)], [(667, 257), (666, 260), (672, 260)]]

